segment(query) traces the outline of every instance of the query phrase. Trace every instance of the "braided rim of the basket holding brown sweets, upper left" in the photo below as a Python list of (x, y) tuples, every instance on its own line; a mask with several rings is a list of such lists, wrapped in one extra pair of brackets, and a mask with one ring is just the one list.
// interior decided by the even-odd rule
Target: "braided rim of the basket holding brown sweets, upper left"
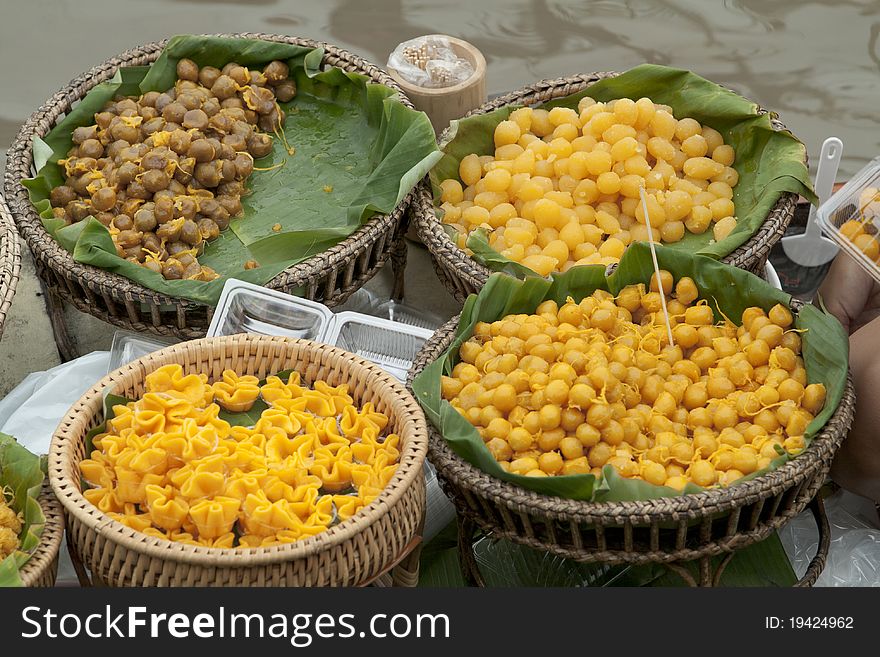
[[(383, 84), (393, 89), (398, 100), (404, 106), (413, 108), (406, 93), (387, 72), (362, 57), (330, 43), (305, 37), (258, 32), (217, 33), (200, 36), (259, 39), (322, 48), (324, 51), (321, 60), (322, 66), (332, 67), (347, 63), (349, 68), (354, 68), (357, 72), (368, 76), (371, 83)], [(108, 292), (114, 298), (121, 300), (136, 299), (159, 306), (177, 306), (184, 309), (199, 308), (206, 307), (206, 305), (190, 299), (156, 292), (115, 272), (74, 260), (73, 254), (66, 251), (43, 227), (42, 220), (30, 201), (27, 189), (21, 184), (23, 179), (32, 175), (34, 137), (44, 137), (68, 111), (64, 110), (53, 116), (53, 109), (57, 108), (59, 104), (69, 105), (80, 100), (92, 88), (112, 77), (118, 68), (133, 65), (131, 62), (137, 58), (148, 57), (152, 63), (158, 58), (168, 40), (166, 38), (127, 49), (79, 74), (49, 96), (28, 117), (7, 151), (4, 188), (9, 202), (10, 215), (25, 243), (34, 256), (46, 263), (56, 274), (65, 279), (74, 279), (92, 290)], [(307, 285), (329, 266), (347, 262), (356, 255), (353, 253), (354, 251), (369, 245), (379, 235), (393, 229), (412, 202), (415, 189), (414, 187), (410, 190), (389, 214), (377, 214), (370, 217), (337, 244), (302, 262), (291, 265), (268, 281), (265, 286), (280, 289)]]

